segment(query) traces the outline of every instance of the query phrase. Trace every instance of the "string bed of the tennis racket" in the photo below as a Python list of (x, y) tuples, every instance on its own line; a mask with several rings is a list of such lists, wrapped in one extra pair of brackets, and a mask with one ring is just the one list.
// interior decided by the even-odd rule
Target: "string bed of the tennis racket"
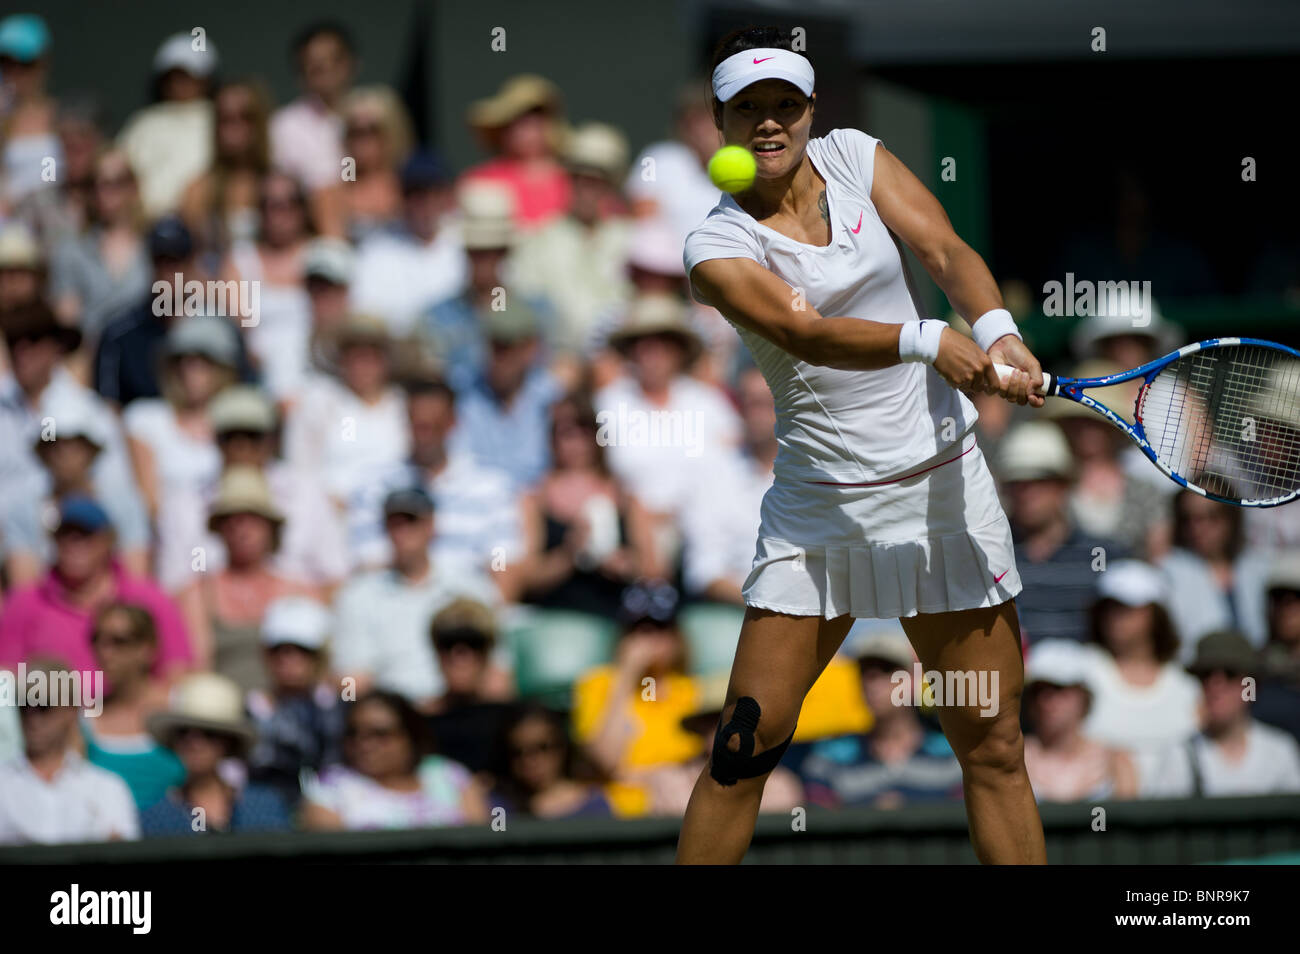
[(1138, 416), (1156, 458), (1219, 496), (1300, 490), (1300, 361), (1230, 344), (1184, 355), (1143, 386)]

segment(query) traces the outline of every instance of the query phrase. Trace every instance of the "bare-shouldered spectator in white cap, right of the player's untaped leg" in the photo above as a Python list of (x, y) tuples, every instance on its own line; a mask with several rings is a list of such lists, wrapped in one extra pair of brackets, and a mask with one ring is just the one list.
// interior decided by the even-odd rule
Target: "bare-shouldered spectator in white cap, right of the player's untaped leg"
[(1138, 768), (1122, 749), (1083, 732), (1091, 658), (1076, 642), (1043, 639), (1024, 671), (1024, 767), (1040, 802), (1136, 798)]

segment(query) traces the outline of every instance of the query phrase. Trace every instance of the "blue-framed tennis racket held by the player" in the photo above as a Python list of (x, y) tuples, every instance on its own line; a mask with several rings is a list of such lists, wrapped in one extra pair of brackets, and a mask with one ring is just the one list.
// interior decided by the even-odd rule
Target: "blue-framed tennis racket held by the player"
[[(1087, 394), (1139, 378), (1132, 424)], [(1039, 393), (1092, 408), (1170, 480), (1212, 500), (1277, 507), (1300, 496), (1300, 351), (1284, 344), (1210, 338), (1100, 378), (1044, 373)]]

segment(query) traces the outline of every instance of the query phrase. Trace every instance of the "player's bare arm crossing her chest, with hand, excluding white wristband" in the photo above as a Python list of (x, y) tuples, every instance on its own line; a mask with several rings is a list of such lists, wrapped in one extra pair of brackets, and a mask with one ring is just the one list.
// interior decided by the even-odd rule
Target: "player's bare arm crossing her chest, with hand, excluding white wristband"
[[(708, 259), (692, 269), (690, 278), (714, 308), (801, 361), (842, 370), (900, 363), (901, 325), (824, 317), (753, 259)], [(952, 329), (944, 329), (935, 370), (954, 387), (997, 390), (988, 355)]]

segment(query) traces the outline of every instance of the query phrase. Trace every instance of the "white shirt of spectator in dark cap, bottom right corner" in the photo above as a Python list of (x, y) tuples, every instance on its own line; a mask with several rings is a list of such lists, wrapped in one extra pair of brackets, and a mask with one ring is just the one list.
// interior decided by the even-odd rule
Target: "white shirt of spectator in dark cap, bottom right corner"
[[(1245, 753), (1240, 762), (1228, 762), (1219, 746), (1205, 736), (1196, 736), (1192, 749), (1204, 795), (1300, 793), (1300, 747), (1282, 729), (1252, 720), (1245, 730)], [(1187, 745), (1150, 753), (1139, 759), (1138, 769), (1144, 798), (1188, 798), (1195, 794)]]

